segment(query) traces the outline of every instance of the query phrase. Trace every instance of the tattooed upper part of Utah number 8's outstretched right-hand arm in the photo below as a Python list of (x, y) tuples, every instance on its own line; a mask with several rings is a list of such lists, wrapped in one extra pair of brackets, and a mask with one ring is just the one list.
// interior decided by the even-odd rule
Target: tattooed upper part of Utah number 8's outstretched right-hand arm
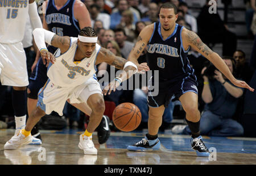
[(187, 32), (186, 38), (189, 44), (196, 46), (196, 48), (202, 51), (202, 53), (204, 53), (205, 55), (213, 53), (213, 51), (201, 41), (201, 39), (199, 38), (199, 36), (196, 35), (195, 32)]

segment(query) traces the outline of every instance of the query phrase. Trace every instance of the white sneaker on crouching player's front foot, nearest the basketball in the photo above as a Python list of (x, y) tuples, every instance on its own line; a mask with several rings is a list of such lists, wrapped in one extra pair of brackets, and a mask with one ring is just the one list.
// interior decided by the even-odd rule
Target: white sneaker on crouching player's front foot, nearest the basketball
[(79, 148), (84, 150), (84, 154), (97, 154), (97, 149), (94, 147), (92, 136), (80, 135)]

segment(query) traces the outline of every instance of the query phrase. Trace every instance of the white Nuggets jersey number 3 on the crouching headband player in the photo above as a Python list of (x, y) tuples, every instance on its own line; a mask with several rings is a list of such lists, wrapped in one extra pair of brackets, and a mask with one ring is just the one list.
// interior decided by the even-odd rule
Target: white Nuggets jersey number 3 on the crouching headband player
[[(75, 87), (85, 83), (86, 80), (92, 78), (96, 72), (96, 57), (101, 46), (96, 44), (90, 58), (84, 58), (82, 61), (74, 61), (77, 49), (77, 37), (71, 37), (71, 46), (63, 53), (58, 54), (60, 49), (56, 51), (54, 64), (49, 64), (47, 76), (54, 84), (60, 87)], [(59, 56), (58, 56), (59, 55)]]

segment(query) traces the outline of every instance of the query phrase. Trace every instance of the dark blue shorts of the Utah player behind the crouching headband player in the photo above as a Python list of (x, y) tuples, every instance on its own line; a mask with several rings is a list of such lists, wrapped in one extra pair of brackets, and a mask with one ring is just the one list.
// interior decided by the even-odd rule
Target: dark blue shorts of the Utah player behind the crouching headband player
[(38, 92), (46, 84), (47, 79), (47, 67), (40, 57), (29, 79), (28, 89), (30, 89), (30, 93), (27, 94), (28, 98), (37, 100)]

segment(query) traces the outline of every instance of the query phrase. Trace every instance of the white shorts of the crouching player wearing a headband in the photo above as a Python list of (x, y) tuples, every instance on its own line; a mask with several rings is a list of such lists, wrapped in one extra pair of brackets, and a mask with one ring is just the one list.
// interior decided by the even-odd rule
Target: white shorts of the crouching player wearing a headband
[(71, 104), (87, 102), (90, 95), (99, 93), (103, 96), (100, 84), (94, 78), (88, 79), (84, 84), (77, 87), (59, 87), (51, 80), (47, 80), (43, 88), (38, 93), (38, 104), (46, 114), (56, 111), (63, 115), (65, 102), (69, 99)]

